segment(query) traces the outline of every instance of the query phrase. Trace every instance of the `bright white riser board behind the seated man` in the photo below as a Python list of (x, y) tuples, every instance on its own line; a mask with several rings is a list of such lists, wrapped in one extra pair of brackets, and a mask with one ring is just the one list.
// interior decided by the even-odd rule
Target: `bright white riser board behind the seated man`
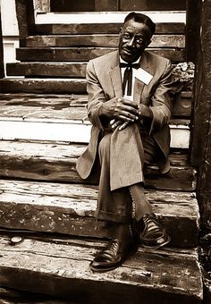
[[(39, 113), (38, 109), (38, 113)], [(81, 111), (80, 111), (81, 112)], [(81, 112), (83, 113), (83, 111)], [(68, 120), (55, 120), (30, 117), (27, 114), (23, 118), (9, 118), (0, 120), (0, 138), (4, 140), (28, 139), (46, 141), (66, 141), (75, 143), (88, 143), (90, 139), (91, 125), (88, 122)], [(73, 113), (78, 116), (77, 112)], [(187, 149), (190, 145), (190, 129), (183, 125), (170, 125), (171, 148)]]

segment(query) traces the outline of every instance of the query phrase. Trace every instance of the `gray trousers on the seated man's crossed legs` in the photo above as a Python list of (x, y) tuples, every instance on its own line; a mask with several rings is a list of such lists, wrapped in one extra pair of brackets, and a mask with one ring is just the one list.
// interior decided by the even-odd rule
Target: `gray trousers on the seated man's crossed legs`
[(126, 129), (105, 132), (99, 142), (101, 165), (97, 219), (130, 223), (132, 199), (129, 187), (144, 182), (144, 164), (156, 161), (156, 141), (132, 123)]

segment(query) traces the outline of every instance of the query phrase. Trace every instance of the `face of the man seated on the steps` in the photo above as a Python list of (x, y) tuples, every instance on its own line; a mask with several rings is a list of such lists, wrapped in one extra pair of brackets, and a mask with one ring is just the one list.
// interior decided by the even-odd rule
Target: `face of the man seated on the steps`
[(127, 63), (137, 61), (144, 49), (151, 42), (151, 30), (148, 26), (133, 20), (124, 23), (120, 33), (119, 51)]

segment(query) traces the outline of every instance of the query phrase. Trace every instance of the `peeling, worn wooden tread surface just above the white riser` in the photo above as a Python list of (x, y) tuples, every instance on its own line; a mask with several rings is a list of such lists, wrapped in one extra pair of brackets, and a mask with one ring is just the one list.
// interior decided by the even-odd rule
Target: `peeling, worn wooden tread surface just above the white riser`
[[(185, 95), (185, 92), (184, 92)], [(188, 99), (188, 101), (187, 101)], [(69, 120), (82, 121), (87, 116), (87, 95), (30, 95), (30, 94), (0, 94), (0, 118), (33, 120), (54, 119), (63, 122)], [(190, 98), (180, 98), (173, 101), (173, 115), (180, 116), (182, 109), (184, 117), (190, 112)], [(182, 116), (182, 115), (181, 115)], [(174, 125), (189, 125), (188, 119), (174, 118)]]

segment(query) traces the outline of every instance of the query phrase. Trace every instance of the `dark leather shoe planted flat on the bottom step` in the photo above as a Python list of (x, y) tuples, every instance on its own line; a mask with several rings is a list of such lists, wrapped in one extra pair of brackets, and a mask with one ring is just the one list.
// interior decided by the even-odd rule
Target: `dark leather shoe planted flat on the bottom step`
[(90, 263), (91, 270), (103, 273), (121, 266), (131, 256), (137, 245), (133, 241), (123, 242), (119, 239), (110, 241), (105, 249), (97, 253), (96, 258)]

